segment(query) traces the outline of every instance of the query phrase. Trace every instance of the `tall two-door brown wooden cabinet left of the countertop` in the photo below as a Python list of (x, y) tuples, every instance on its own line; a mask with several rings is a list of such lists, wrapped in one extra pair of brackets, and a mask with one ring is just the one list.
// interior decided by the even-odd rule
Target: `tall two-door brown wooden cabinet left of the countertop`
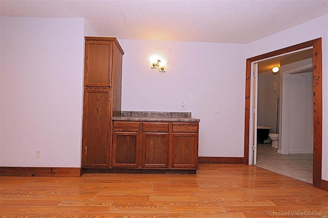
[(111, 167), (112, 117), (121, 112), (122, 55), (116, 38), (85, 37), (82, 167)]

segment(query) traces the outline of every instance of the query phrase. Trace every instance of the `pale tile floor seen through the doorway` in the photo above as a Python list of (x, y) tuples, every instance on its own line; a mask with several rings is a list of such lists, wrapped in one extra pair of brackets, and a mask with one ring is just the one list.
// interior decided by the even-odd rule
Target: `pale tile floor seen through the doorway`
[(271, 144), (257, 144), (256, 166), (307, 183), (313, 182), (313, 154), (282, 155)]

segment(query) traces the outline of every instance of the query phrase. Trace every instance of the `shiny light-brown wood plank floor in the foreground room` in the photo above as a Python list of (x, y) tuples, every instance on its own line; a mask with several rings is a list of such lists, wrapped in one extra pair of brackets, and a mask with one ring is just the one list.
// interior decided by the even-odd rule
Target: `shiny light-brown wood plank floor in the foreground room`
[(197, 175), (90, 173), (0, 182), (1, 217), (328, 217), (328, 192), (243, 164), (199, 164)]

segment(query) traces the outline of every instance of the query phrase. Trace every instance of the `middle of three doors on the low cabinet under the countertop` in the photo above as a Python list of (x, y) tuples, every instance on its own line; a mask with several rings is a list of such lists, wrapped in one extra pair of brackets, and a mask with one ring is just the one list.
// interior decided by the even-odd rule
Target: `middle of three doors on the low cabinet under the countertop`
[(168, 168), (169, 134), (144, 133), (142, 141), (142, 166)]

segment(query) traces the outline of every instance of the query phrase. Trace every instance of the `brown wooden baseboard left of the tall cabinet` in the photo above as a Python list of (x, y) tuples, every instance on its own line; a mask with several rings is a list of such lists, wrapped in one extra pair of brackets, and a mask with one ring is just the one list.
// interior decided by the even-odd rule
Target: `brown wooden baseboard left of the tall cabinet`
[(2, 177), (80, 177), (83, 169), (73, 167), (0, 167)]

